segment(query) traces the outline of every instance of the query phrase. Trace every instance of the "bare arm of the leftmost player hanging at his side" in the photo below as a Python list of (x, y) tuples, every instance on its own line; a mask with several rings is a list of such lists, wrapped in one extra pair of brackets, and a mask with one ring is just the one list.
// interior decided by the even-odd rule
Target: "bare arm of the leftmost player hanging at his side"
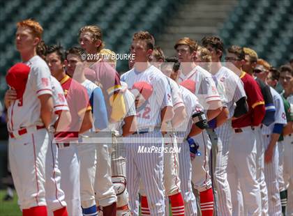
[(40, 100), (40, 118), (42, 119), (45, 128), (50, 127), (53, 117), (53, 99), (51, 94), (39, 95)]

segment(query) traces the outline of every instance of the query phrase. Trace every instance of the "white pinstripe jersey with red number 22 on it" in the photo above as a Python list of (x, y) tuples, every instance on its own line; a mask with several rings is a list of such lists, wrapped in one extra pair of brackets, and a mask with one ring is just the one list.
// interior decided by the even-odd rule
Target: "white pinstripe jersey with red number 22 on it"
[(160, 127), (161, 108), (172, 107), (170, 85), (162, 72), (153, 65), (143, 72), (137, 72), (133, 68), (121, 76), (121, 81), (126, 82), (130, 91), (135, 89), (135, 85), (142, 83), (151, 89), (151, 95), (141, 107), (137, 107), (137, 128)]

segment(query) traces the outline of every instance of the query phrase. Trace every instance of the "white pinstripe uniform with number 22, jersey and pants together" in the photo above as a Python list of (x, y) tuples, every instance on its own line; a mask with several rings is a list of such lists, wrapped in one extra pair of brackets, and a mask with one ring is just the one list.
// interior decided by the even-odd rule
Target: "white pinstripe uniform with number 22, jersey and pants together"
[[(143, 148), (162, 148), (163, 137), (160, 127), (160, 111), (162, 107), (172, 107), (170, 86), (158, 68), (151, 65), (143, 72), (135, 68), (121, 76), (121, 81), (132, 89), (136, 84), (143, 84), (152, 89), (149, 98), (140, 109), (137, 109), (137, 134), (126, 138), (128, 192), (133, 215), (138, 215), (135, 200), (138, 194), (140, 178), (146, 188), (149, 210), (152, 215), (165, 215), (165, 199), (163, 193), (163, 152), (138, 153)], [(152, 131), (152, 132), (151, 132)], [(130, 143), (131, 141), (131, 143)], [(153, 147), (152, 147), (153, 146)]]

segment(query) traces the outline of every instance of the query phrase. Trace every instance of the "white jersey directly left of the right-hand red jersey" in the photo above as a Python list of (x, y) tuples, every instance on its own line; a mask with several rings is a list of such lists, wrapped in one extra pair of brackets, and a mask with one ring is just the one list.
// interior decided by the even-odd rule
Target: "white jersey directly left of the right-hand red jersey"
[(243, 82), (232, 70), (226, 67), (220, 68), (215, 76), (218, 83), (222, 83), (225, 88), (225, 99), (227, 100), (227, 108), (229, 109), (229, 118), (232, 118), (235, 102), (240, 98), (246, 97)]

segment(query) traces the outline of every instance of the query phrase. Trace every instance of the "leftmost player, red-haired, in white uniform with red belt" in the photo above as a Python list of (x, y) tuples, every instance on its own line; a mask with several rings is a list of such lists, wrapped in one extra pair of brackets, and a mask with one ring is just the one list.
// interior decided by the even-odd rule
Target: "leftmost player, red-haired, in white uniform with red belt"
[(24, 216), (47, 215), (45, 156), (50, 141), (47, 130), (52, 122), (53, 100), (50, 70), (36, 55), (42, 33), (43, 28), (36, 21), (17, 23), (16, 48), (25, 64), (20, 65), (20, 70), (27, 70), (29, 75), (22, 79), (27, 85), (17, 89), (17, 99), (5, 102), (10, 134), (10, 169)]

